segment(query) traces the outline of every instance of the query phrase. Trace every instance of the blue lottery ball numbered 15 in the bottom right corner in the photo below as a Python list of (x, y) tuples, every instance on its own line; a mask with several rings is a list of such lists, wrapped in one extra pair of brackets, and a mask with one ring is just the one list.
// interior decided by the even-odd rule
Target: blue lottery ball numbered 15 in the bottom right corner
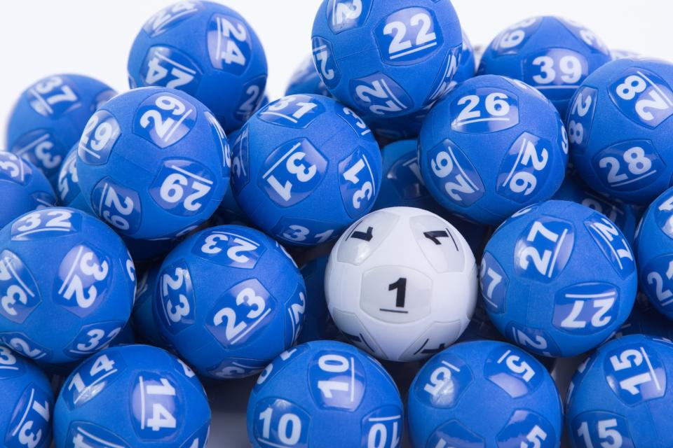
[(568, 388), (566, 428), (573, 448), (673, 446), (673, 345), (630, 335), (580, 365)]

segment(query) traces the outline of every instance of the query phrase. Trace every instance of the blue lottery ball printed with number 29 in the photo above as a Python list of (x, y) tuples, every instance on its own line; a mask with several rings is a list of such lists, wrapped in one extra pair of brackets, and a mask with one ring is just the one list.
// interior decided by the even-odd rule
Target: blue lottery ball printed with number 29
[(104, 104), (77, 151), (82, 194), (135, 239), (172, 238), (210, 218), (229, 186), (229, 144), (215, 116), (178, 90), (144, 87)]

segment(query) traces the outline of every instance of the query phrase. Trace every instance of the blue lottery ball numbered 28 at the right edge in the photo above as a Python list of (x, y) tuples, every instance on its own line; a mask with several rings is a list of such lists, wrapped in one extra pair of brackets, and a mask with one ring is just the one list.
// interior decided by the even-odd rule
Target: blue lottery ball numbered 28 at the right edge
[(617, 59), (592, 73), (571, 104), (573, 163), (591, 188), (647, 205), (673, 185), (673, 64)]

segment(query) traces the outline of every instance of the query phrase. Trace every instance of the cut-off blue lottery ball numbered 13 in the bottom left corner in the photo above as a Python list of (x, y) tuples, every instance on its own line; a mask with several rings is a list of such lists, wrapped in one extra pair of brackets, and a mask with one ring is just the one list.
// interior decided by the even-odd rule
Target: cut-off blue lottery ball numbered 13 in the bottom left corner
[(48, 448), (54, 393), (46, 375), (0, 346), (0, 437), (3, 447)]

